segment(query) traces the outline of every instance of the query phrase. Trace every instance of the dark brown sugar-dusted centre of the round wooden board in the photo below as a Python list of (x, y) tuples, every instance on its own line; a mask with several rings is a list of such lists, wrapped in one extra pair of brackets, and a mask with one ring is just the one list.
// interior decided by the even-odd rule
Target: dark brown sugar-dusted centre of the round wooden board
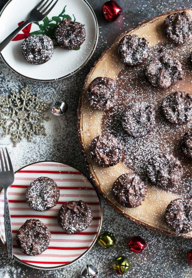
[[(172, 154), (181, 160), (184, 165), (184, 177), (180, 189), (175, 188), (175, 192), (180, 190), (184, 196), (191, 197), (189, 189), (190, 180), (188, 173), (191, 171), (190, 160), (182, 154), (180, 149), (181, 137), (185, 131), (190, 127), (190, 121), (185, 124), (172, 124), (168, 122), (162, 115), (162, 102), (165, 97), (171, 92), (185, 89), (186, 92), (191, 93), (191, 65), (189, 63), (190, 56), (190, 43), (184, 44), (181, 48), (175, 47), (167, 43), (156, 45), (150, 52), (150, 57), (158, 55), (159, 50), (169, 53), (170, 56), (177, 58), (184, 69), (184, 79), (178, 81), (174, 86), (168, 89), (160, 89), (150, 85), (145, 79), (143, 70), (145, 64), (137, 67), (124, 67), (117, 79), (117, 88), (120, 96), (118, 98), (118, 105), (114, 110), (106, 112), (103, 115), (102, 130), (111, 132), (115, 135), (124, 145), (125, 159), (124, 165), (129, 166), (133, 171), (139, 174), (146, 180), (146, 165), (148, 159), (155, 154)], [(182, 53), (182, 55), (180, 55)], [(150, 58), (149, 58), (150, 59)], [(156, 125), (154, 129), (146, 136), (141, 138), (133, 138), (127, 136), (120, 123), (120, 115), (129, 103), (139, 103), (141, 101), (148, 101), (156, 110)], [(188, 182), (189, 180), (189, 182)], [(147, 180), (146, 180), (147, 181)], [(185, 188), (183, 186), (185, 184)], [(190, 194), (190, 195), (189, 195)]]

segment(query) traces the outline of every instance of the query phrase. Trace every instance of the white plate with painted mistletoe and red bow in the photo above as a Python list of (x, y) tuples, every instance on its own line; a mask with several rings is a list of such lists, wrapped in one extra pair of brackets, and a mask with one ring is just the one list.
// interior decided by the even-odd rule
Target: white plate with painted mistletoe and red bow
[[(29, 12), (40, 0), (10, 0), (3, 8), (0, 16), (0, 42), (18, 27), (18, 23), (26, 21)], [(66, 7), (65, 7), (66, 6)], [(32, 65), (25, 61), (21, 54), (21, 43), (24, 39), (11, 41), (2, 51), (3, 61), (17, 74), (38, 81), (54, 81), (68, 77), (81, 69), (92, 56), (98, 40), (98, 23), (94, 11), (86, 0), (59, 0), (48, 18), (58, 16), (65, 7), (65, 15), (81, 22), (86, 30), (85, 42), (79, 50), (54, 49), (52, 58), (42, 65)], [(60, 17), (61, 19), (61, 17)], [(43, 22), (39, 22), (43, 24)], [(51, 23), (56, 23), (52, 21)], [(40, 28), (32, 24), (30, 32)], [(20, 34), (24, 34), (22, 31)]]

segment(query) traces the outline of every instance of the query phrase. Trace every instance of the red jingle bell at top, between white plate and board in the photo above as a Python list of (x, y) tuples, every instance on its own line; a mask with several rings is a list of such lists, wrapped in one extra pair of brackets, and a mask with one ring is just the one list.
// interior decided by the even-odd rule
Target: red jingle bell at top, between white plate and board
[(122, 11), (122, 8), (114, 0), (109, 0), (102, 6), (102, 14), (107, 21), (115, 21)]

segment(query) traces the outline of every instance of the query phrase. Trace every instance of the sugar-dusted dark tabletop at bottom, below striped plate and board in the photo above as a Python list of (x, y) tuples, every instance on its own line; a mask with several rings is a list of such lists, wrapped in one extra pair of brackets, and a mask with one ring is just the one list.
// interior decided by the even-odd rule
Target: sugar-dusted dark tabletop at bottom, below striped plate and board
[[(113, 247), (103, 249), (96, 243), (89, 253), (77, 262), (65, 268), (50, 271), (25, 267), (15, 260), (9, 262), (6, 251), (2, 249), (0, 278), (79, 278), (79, 269), (87, 263), (92, 263), (97, 267), (99, 278), (122, 277), (112, 269), (112, 260), (119, 255), (126, 255), (131, 265), (123, 277), (191, 277), (191, 267), (186, 258), (187, 251), (191, 249), (189, 240), (146, 231), (134, 222), (114, 213), (113, 208), (109, 207), (104, 200), (102, 200), (102, 207), (103, 226), (101, 231), (109, 230), (110, 227), (110, 232), (116, 237)], [(146, 248), (140, 254), (129, 251), (128, 241), (134, 235), (140, 235), (146, 241)]]

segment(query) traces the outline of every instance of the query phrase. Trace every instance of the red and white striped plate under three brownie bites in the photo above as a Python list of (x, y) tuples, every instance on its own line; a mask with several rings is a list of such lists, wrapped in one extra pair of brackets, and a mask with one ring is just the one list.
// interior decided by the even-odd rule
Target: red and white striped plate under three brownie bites
[[(60, 189), (57, 205), (47, 211), (32, 210), (25, 202), (26, 188), (37, 177), (50, 177)], [(15, 173), (15, 181), (8, 192), (11, 213), (13, 256), (30, 267), (55, 269), (78, 260), (94, 245), (102, 223), (102, 208), (99, 197), (91, 183), (78, 170), (58, 162), (38, 162), (21, 168)], [(83, 200), (89, 204), (93, 220), (90, 226), (78, 234), (66, 234), (57, 222), (61, 205), (68, 201)], [(21, 253), (16, 244), (16, 235), (27, 219), (36, 218), (43, 222), (51, 232), (49, 248), (38, 256)], [(4, 192), (0, 192), (0, 240), (5, 244)]]

